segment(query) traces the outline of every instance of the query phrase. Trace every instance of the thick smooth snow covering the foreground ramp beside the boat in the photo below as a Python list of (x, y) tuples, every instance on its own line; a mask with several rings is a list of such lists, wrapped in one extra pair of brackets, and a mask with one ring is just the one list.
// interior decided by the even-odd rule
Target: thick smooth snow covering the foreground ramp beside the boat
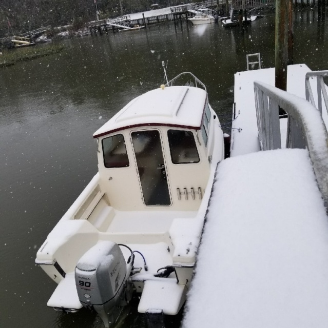
[(226, 159), (211, 199), (183, 327), (326, 327), (328, 220), (307, 151)]

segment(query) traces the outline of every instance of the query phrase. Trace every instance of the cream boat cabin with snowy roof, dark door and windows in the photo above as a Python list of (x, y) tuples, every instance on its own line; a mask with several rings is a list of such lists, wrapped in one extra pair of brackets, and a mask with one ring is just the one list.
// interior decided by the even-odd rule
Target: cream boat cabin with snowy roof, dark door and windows
[(133, 99), (95, 132), (111, 206), (197, 210), (210, 170), (212, 116), (204, 90), (163, 87)]

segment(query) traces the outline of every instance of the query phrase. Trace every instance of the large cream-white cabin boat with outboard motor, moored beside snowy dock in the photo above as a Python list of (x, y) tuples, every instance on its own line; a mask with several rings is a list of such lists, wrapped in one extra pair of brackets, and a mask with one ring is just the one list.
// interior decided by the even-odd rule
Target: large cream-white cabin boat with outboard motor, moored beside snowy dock
[(106, 327), (132, 292), (141, 294), (140, 313), (180, 311), (224, 158), (218, 117), (191, 77), (198, 87), (172, 86), (175, 78), (94, 133), (99, 172), (36, 255), (58, 284), (48, 306), (93, 309)]

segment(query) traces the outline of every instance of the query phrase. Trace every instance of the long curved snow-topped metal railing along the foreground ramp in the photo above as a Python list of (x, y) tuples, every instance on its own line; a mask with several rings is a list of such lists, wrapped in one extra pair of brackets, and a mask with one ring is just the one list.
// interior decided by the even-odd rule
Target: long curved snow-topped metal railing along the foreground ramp
[(328, 209), (328, 134), (319, 111), (305, 99), (265, 83), (255, 81), (254, 92), (261, 150), (281, 148), (281, 107), (288, 114), (286, 148), (308, 150), (325, 208)]

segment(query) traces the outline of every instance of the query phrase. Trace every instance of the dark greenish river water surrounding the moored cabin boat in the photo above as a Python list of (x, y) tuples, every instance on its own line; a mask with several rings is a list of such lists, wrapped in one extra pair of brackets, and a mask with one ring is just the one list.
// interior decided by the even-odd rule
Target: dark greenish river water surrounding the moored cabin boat
[[(313, 11), (295, 13), (294, 63), (328, 69), (327, 24)], [(0, 327), (101, 327), (82, 310), (47, 308), (55, 283), (34, 265), (37, 249), (97, 172), (92, 133), (133, 97), (190, 71), (207, 86), (224, 124), (233, 104), (234, 73), (247, 53), (274, 66), (274, 14), (251, 27), (188, 26), (66, 40), (61, 54), (0, 70)], [(121, 326), (142, 326), (129, 315)], [(128, 323), (127, 323), (128, 322)], [(172, 326), (178, 326), (175, 323)]]

